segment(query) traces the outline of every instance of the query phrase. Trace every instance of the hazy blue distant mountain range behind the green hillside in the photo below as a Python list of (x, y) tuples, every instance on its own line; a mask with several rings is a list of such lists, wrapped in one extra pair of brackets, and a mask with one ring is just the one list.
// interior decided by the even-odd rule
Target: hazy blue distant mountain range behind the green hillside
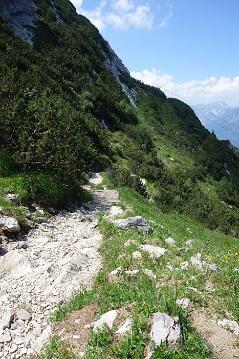
[(225, 102), (191, 106), (202, 124), (214, 131), (219, 139), (229, 139), (233, 146), (239, 148), (239, 106), (229, 107)]

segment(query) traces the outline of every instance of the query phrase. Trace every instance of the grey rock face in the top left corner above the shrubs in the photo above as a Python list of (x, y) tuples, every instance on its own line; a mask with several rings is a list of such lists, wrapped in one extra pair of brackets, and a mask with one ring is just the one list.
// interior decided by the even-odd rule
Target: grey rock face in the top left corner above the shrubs
[(7, 21), (12, 25), (16, 34), (21, 35), (24, 41), (32, 44), (34, 31), (26, 27), (36, 27), (38, 20), (36, 7), (32, 0), (9, 0), (0, 2), (0, 12), (4, 14)]

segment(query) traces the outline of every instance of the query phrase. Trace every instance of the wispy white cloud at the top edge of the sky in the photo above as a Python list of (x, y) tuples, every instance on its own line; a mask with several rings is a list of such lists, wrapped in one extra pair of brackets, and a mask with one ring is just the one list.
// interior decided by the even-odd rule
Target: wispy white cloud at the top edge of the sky
[[(107, 25), (122, 30), (129, 27), (151, 29), (156, 26), (155, 15), (149, 3), (136, 6), (134, 0), (112, 0), (111, 8), (106, 10), (108, 2), (104, 0), (95, 9), (89, 11), (84, 10), (83, 0), (72, 0), (72, 2), (77, 11), (88, 17), (99, 30), (104, 29)], [(171, 5), (167, 5), (167, 7), (169, 7), (169, 13), (162, 19), (158, 27), (167, 26), (167, 22), (172, 16)]]

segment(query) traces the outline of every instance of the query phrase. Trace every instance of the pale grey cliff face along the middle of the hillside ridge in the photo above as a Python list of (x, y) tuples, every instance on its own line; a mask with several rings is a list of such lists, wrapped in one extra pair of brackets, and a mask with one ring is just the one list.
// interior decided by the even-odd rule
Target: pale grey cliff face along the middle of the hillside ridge
[(116, 81), (118, 82), (118, 84), (121, 85), (122, 90), (126, 93), (128, 98), (131, 100), (131, 103), (133, 105), (135, 105), (136, 102), (138, 101), (138, 93), (137, 93), (136, 89), (135, 88), (129, 89), (128, 86), (126, 84), (124, 84), (120, 79), (120, 76), (122, 74), (129, 76), (129, 71), (124, 66), (121, 59), (116, 55), (114, 50), (110, 47), (110, 45), (107, 44), (107, 47), (108, 47), (108, 49), (107, 49), (108, 53), (106, 53), (101, 48), (101, 52), (105, 56), (104, 65), (105, 65), (105, 67), (107, 67), (107, 69), (109, 69), (113, 73)]

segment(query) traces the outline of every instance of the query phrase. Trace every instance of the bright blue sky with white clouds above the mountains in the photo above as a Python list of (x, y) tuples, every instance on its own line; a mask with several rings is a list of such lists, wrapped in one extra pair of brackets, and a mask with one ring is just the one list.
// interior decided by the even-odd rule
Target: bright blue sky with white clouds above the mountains
[(189, 105), (239, 106), (239, 0), (71, 0), (132, 76)]

